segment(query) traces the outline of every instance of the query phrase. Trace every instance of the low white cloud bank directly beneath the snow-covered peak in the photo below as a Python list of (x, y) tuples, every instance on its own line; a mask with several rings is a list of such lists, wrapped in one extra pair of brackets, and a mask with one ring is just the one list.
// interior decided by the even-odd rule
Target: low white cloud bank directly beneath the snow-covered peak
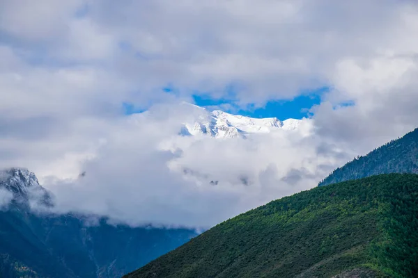
[(309, 120), (301, 132), (219, 140), (179, 136), (190, 115), (184, 106), (154, 106), (109, 126), (82, 177), (45, 180), (55, 209), (132, 225), (208, 228), (316, 186), (325, 175), (320, 165), (335, 162), (316, 151), (320, 140), (309, 133)]

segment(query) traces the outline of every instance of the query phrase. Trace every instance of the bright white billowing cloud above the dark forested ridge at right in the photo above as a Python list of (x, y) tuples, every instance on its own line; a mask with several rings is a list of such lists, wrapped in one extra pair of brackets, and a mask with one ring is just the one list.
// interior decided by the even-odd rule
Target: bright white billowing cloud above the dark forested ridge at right
[(343, 60), (335, 76), (338, 89), (313, 108), (320, 136), (364, 154), (418, 126), (417, 56)]

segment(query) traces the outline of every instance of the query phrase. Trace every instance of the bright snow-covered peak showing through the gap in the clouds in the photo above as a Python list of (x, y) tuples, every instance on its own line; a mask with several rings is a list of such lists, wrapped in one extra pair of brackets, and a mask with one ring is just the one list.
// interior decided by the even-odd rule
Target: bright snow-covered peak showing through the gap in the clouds
[[(187, 104), (187, 103), (183, 103)], [(233, 115), (224, 111), (208, 111), (206, 108), (188, 104), (199, 113), (196, 122), (184, 123), (183, 136), (210, 136), (213, 138), (246, 138), (252, 133), (270, 133), (274, 130), (297, 130), (302, 120), (281, 121), (277, 117), (254, 118)]]

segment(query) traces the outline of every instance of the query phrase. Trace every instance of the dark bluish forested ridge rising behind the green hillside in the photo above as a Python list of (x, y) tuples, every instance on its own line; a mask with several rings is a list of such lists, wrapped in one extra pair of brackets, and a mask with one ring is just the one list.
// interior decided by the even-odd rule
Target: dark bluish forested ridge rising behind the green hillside
[(318, 186), (389, 173), (418, 174), (418, 129), (339, 167)]

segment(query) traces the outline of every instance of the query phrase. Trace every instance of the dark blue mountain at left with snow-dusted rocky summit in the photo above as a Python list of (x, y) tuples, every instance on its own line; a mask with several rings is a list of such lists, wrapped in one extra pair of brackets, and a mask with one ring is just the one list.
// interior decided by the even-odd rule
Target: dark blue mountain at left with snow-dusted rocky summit
[(121, 277), (196, 236), (187, 229), (88, 224), (84, 215), (34, 213), (29, 202), (52, 206), (28, 170), (0, 172), (13, 194), (0, 210), (0, 277)]

